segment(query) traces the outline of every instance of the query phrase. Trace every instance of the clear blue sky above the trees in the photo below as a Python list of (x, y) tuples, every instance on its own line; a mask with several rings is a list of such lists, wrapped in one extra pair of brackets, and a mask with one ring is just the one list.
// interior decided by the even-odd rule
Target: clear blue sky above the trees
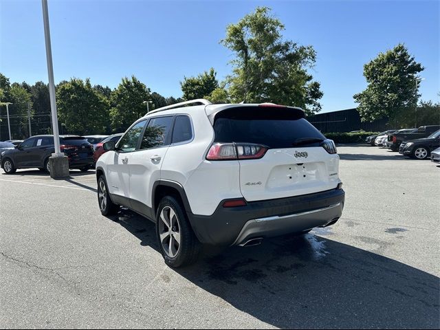
[[(363, 65), (404, 43), (425, 70), (423, 100), (439, 100), (440, 1), (48, 0), (55, 83), (90, 78), (116, 87), (135, 75), (157, 93), (181, 96), (184, 76), (214, 67), (223, 80), (232, 52), (225, 28), (259, 5), (285, 24), (283, 37), (312, 45), (322, 112), (355, 107)], [(40, 0), (0, 0), (0, 72), (10, 82), (47, 83)]]

